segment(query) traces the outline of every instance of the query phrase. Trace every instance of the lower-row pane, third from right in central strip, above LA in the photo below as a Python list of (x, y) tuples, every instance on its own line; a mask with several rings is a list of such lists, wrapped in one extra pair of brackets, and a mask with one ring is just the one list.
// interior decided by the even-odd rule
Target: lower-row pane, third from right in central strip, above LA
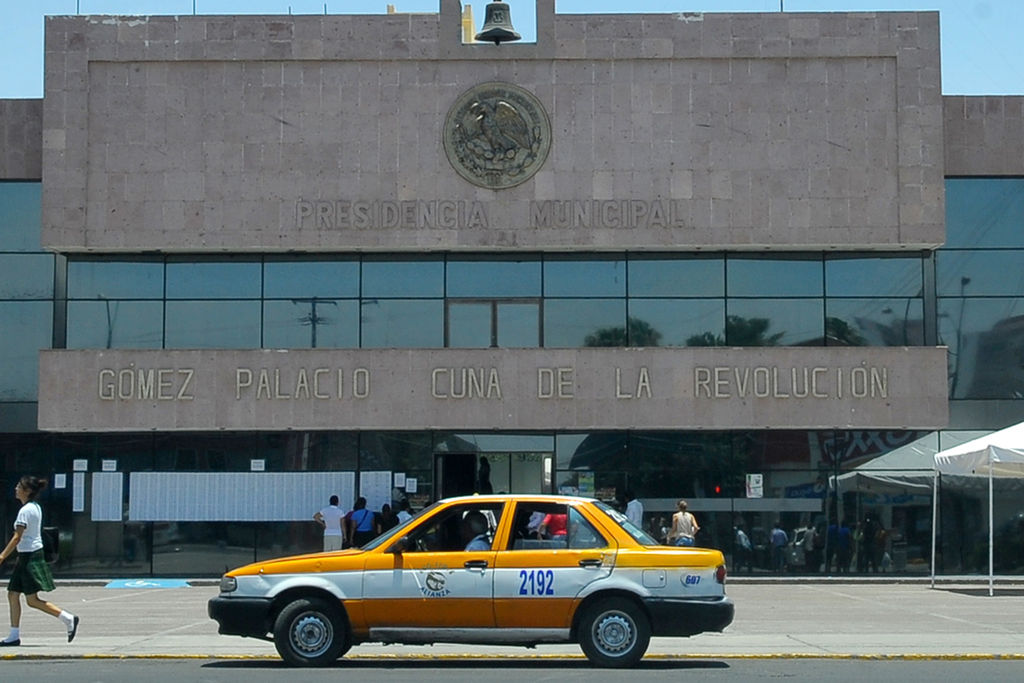
[[(724, 299), (631, 299), (630, 319), (645, 321), (657, 331), (658, 346), (725, 343)], [(633, 335), (630, 345), (644, 346), (639, 340), (640, 337)]]

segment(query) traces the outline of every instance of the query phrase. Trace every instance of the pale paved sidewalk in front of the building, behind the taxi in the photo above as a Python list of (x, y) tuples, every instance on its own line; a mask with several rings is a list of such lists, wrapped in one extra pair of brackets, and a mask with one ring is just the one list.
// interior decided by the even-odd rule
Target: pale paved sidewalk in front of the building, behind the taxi
[[(4, 583), (5, 584), (5, 583)], [(1024, 658), (1024, 584), (987, 581), (730, 580), (736, 617), (724, 633), (654, 638), (652, 657)], [(74, 643), (61, 624), (26, 608), (20, 647), (0, 659), (42, 657), (272, 657), (269, 642), (220, 636), (206, 615), (215, 582), (183, 588), (110, 589), (58, 582), (45, 597), (78, 614)], [(6, 618), (2, 620), (6, 623)], [(4, 631), (4, 634), (6, 632)], [(357, 645), (349, 657), (544, 657), (574, 645), (521, 647)]]

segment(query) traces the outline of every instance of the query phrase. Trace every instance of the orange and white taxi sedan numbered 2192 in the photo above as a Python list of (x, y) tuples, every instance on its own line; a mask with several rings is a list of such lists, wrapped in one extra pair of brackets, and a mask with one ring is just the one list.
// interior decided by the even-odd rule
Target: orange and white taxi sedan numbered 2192
[(355, 644), (580, 643), (630, 667), (651, 636), (732, 622), (722, 553), (670, 548), (599, 501), (440, 501), (361, 549), (256, 562), (221, 579), (210, 617), (321, 666)]

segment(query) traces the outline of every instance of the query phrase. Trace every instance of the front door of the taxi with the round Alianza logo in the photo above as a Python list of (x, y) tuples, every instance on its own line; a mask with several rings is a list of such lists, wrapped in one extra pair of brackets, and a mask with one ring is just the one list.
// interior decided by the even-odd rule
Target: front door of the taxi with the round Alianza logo
[(442, 509), (410, 531), (410, 545), (402, 552), (368, 558), (362, 609), (370, 628), (495, 626), (490, 598), (496, 552), (464, 550), (466, 541), (458, 533), (470, 509), (475, 508)]

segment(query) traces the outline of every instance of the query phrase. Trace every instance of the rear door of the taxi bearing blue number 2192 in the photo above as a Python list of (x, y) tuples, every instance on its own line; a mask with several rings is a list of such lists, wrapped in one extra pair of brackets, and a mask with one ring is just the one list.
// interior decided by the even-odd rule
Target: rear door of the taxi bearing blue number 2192
[[(500, 629), (567, 629), (577, 596), (595, 581), (607, 579), (615, 562), (613, 541), (606, 539), (571, 506), (564, 539), (538, 539), (513, 527), (507, 547), (495, 559), (495, 623)], [(513, 523), (538, 506), (518, 503)]]

